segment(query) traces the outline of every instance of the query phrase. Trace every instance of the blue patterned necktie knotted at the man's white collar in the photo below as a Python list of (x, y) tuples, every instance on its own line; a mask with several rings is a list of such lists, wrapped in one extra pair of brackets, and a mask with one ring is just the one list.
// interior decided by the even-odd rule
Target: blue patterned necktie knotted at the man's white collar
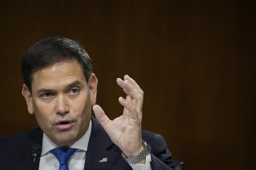
[(59, 159), (59, 170), (69, 170), (67, 163), (70, 157), (76, 152), (77, 149), (69, 147), (59, 147), (51, 149), (51, 153)]

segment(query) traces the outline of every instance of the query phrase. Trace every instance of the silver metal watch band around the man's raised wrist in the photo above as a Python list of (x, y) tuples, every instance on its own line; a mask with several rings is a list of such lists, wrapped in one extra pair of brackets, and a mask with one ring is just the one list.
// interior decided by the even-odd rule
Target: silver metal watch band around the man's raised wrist
[(127, 158), (124, 155), (124, 153), (122, 153), (122, 156), (124, 157), (126, 162), (131, 163), (131, 164), (135, 164), (135, 163), (138, 163), (139, 161), (141, 161), (142, 159), (144, 159), (148, 154), (150, 154), (150, 152), (151, 152), (150, 146), (143, 140), (141, 141), (141, 143), (144, 146), (144, 149), (138, 155), (136, 155), (135, 157)]

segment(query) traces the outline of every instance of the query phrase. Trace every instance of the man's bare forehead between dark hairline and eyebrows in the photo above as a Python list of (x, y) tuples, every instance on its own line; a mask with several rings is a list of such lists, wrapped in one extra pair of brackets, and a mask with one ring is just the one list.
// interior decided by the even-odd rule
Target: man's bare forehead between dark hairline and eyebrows
[(77, 60), (63, 61), (44, 67), (33, 73), (32, 89), (44, 86), (68, 84), (71, 81), (85, 82), (82, 67)]

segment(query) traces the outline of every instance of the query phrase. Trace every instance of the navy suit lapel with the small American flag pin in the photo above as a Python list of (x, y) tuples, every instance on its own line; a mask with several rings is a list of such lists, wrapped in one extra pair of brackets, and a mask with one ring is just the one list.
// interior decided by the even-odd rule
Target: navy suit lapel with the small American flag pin
[[(114, 145), (98, 120), (91, 118), (91, 136), (86, 152), (84, 170), (110, 170), (114, 159), (117, 156), (116, 152), (109, 151)], [(106, 158), (106, 162), (100, 162), (100, 159)]]

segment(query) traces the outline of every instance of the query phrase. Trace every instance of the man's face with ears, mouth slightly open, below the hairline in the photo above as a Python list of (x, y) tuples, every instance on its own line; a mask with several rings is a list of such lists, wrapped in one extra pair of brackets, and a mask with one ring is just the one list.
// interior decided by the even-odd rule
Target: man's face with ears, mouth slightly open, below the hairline
[(28, 111), (57, 145), (72, 145), (87, 131), (96, 102), (97, 78), (86, 83), (77, 60), (45, 67), (33, 74), (32, 94), (23, 85)]

